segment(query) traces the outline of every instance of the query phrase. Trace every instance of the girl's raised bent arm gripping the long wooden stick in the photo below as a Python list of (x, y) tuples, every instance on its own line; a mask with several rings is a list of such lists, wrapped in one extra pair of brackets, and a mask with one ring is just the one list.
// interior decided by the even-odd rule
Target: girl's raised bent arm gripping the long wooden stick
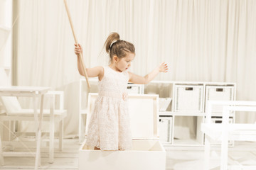
[[(83, 72), (82, 69), (82, 60), (80, 52), (82, 53), (82, 47), (80, 46), (80, 44), (75, 44), (75, 55), (78, 56), (78, 72), (80, 73), (80, 75), (85, 77), (85, 72)], [(99, 79), (101, 80), (104, 74), (104, 69), (101, 66), (97, 66), (93, 68), (87, 68), (86, 72), (88, 77), (99, 77)]]

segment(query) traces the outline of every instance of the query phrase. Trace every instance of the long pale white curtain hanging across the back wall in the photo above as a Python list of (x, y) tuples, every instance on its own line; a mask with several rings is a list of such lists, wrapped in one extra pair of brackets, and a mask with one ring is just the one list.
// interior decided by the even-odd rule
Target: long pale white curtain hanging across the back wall
[[(169, 73), (156, 80), (235, 82), (238, 100), (256, 101), (256, 1), (67, 1), (86, 67), (107, 64), (102, 47), (115, 31), (136, 47), (136, 74), (167, 62)], [(18, 32), (18, 85), (64, 90), (65, 135), (77, 135), (80, 75), (63, 1), (20, 1)]]

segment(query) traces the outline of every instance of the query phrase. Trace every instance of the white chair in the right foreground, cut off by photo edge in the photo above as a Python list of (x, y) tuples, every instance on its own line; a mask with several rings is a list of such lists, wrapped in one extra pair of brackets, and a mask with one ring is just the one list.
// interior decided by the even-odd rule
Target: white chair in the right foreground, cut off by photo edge
[[(210, 101), (206, 112), (206, 123), (202, 123), (201, 131), (205, 133), (205, 161), (204, 169), (210, 169), (210, 140), (221, 142), (220, 169), (228, 169), (228, 140), (256, 141), (256, 124), (229, 123), (230, 113), (233, 111), (256, 112), (256, 101)], [(212, 107), (223, 106), (222, 123), (212, 123)], [(233, 114), (233, 113), (232, 113)], [(243, 166), (239, 162), (232, 162), (235, 169), (256, 169), (255, 166)]]

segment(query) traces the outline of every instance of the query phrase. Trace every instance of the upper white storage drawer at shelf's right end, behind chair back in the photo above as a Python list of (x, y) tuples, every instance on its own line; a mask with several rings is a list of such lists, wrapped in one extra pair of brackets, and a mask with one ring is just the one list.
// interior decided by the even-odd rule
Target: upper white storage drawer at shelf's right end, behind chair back
[[(207, 101), (233, 101), (234, 86), (206, 86), (206, 108)], [(223, 106), (213, 106), (212, 113), (222, 113)]]

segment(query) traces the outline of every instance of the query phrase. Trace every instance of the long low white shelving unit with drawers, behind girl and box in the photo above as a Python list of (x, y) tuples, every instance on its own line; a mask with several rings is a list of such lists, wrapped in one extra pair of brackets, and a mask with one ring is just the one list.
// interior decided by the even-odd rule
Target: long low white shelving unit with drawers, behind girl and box
[[(84, 139), (87, 94), (97, 93), (97, 79), (80, 79), (80, 142)], [(165, 146), (203, 146), (201, 123), (208, 100), (234, 101), (235, 83), (197, 81), (151, 81), (146, 85), (128, 84), (129, 94), (159, 95), (159, 135)], [(213, 109), (213, 121), (220, 123), (222, 108)], [(235, 114), (230, 122), (235, 122)], [(217, 144), (216, 144), (217, 145)]]

